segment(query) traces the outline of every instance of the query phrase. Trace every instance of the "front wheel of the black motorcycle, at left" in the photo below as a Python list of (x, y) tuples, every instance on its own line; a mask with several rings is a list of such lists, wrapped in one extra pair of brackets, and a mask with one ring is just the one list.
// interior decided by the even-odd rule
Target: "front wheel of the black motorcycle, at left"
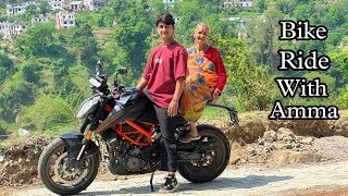
[(54, 139), (42, 151), (38, 162), (38, 174), (44, 185), (59, 195), (74, 195), (84, 191), (96, 179), (99, 156), (92, 155), (74, 167), (67, 167), (69, 145)]

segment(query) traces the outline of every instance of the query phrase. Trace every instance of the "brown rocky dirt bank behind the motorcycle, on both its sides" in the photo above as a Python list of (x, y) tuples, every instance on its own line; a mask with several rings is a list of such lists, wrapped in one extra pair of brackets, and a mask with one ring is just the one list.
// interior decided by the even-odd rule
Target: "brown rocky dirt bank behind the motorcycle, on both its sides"
[[(348, 157), (348, 111), (341, 111), (337, 121), (269, 121), (268, 114), (240, 117), (239, 125), (221, 120), (207, 122), (221, 127), (231, 140), (231, 164), (282, 166)], [(0, 187), (38, 183), (38, 158), (50, 142), (29, 138), (5, 149), (0, 155)], [(99, 176), (107, 173), (104, 164), (100, 166)]]

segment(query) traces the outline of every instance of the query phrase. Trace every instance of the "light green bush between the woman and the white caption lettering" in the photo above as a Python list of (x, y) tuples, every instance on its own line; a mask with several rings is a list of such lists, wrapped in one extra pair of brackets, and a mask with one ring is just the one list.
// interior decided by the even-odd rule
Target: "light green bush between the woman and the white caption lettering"
[(270, 89), (273, 81), (266, 69), (257, 65), (250, 51), (240, 39), (221, 39), (213, 37), (214, 45), (223, 51), (228, 73), (228, 86), (237, 98), (243, 110), (265, 110), (270, 107)]

